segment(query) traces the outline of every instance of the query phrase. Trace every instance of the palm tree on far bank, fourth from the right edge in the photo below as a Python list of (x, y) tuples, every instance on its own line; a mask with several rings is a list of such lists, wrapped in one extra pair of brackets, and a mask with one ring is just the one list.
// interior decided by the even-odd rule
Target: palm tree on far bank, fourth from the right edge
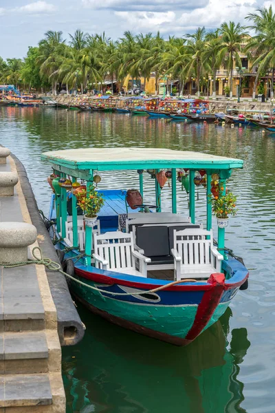
[(205, 51), (205, 39), (206, 29), (198, 28), (194, 34), (186, 34), (188, 39), (186, 45), (186, 58), (188, 63), (186, 64), (186, 76), (192, 76), (196, 73), (197, 76), (197, 92), (200, 94), (199, 81), (201, 76), (205, 73), (205, 67), (203, 66), (203, 52)]

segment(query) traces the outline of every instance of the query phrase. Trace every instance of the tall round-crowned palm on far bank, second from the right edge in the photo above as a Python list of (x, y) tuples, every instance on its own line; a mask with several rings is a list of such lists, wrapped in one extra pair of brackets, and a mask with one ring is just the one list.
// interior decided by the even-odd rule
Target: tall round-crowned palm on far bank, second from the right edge
[(242, 67), (240, 54), (244, 40), (248, 36), (248, 32), (245, 29), (240, 23), (235, 24), (234, 21), (221, 25), (221, 45), (217, 57), (219, 62), (225, 63), (230, 73), (230, 98), (232, 98), (233, 94), (234, 63), (236, 66)]

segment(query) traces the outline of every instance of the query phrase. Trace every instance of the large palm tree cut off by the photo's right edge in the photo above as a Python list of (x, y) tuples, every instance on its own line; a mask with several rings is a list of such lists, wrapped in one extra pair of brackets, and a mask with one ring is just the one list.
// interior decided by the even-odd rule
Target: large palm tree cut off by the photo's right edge
[(256, 35), (250, 39), (246, 47), (253, 50), (253, 65), (259, 65), (253, 87), (253, 98), (256, 94), (256, 85), (262, 73), (272, 69), (271, 97), (274, 98), (274, 72), (275, 72), (275, 14), (270, 8), (259, 8), (256, 13), (250, 13), (246, 19), (253, 21), (250, 29)]

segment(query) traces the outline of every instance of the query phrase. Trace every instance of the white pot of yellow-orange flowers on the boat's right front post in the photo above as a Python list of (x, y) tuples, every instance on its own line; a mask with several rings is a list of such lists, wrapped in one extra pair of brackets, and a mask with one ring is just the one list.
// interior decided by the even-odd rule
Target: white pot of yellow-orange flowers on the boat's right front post
[(236, 215), (236, 196), (232, 192), (228, 192), (226, 195), (214, 196), (214, 198), (211, 196), (210, 202), (219, 228), (225, 228), (228, 226), (229, 215)]

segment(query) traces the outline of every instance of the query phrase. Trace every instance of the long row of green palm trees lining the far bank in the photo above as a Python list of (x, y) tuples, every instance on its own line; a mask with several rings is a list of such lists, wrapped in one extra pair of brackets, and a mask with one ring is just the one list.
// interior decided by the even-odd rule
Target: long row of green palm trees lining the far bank
[(248, 81), (253, 84), (252, 98), (267, 93), (274, 98), (274, 11), (272, 6), (259, 8), (245, 19), (248, 26), (229, 21), (216, 30), (197, 28), (193, 34), (168, 39), (159, 32), (134, 35), (127, 31), (113, 41), (104, 32), (76, 30), (65, 40), (62, 32), (50, 30), (36, 47), (29, 47), (23, 60), (0, 57), (0, 82), (29, 92), (57, 94), (63, 89), (67, 94), (72, 90), (83, 94), (106, 90), (107, 83), (109, 92), (119, 92), (129, 81), (147, 92), (153, 77), (155, 94), (162, 82), (166, 91), (179, 95), (188, 94), (192, 84), (197, 96), (207, 91), (215, 97), (221, 89), (232, 97), (235, 85), (239, 94), (238, 78), (241, 81), (243, 76), (243, 87)]

